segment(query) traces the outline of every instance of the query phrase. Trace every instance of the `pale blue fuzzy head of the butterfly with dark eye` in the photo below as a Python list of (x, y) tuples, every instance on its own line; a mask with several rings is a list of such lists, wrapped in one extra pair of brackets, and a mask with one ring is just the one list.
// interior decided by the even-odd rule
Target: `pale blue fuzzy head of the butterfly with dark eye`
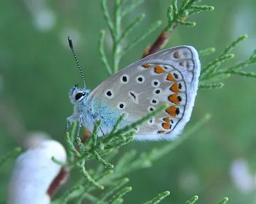
[(70, 101), (73, 104), (78, 104), (84, 102), (84, 99), (89, 95), (90, 90), (86, 88), (78, 88), (77, 85), (74, 85), (73, 88), (70, 89)]

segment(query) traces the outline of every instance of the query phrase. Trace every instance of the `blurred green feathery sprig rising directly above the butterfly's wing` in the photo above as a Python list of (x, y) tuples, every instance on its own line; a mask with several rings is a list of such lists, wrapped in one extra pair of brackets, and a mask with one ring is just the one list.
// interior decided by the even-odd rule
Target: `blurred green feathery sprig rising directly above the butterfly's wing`
[(107, 21), (107, 25), (109, 26), (111, 38), (113, 39), (113, 49), (112, 49), (113, 62), (112, 62), (112, 66), (110, 66), (106, 58), (106, 53), (104, 52), (103, 43), (104, 43), (105, 31), (101, 31), (100, 41), (99, 41), (100, 58), (105, 68), (107, 69), (107, 72), (109, 72), (109, 75), (112, 75), (113, 73), (119, 71), (119, 63), (124, 53), (132, 49), (136, 44), (138, 44), (140, 41), (145, 39), (146, 36), (151, 34), (153, 31), (155, 31), (156, 28), (158, 28), (161, 25), (160, 21), (156, 21), (150, 26), (150, 28), (145, 32), (145, 34), (135, 38), (127, 46), (122, 45), (123, 40), (134, 29), (134, 27), (137, 26), (140, 21), (142, 21), (142, 19), (145, 17), (145, 14), (141, 14), (137, 16), (137, 18), (134, 19), (134, 21), (130, 25), (128, 25), (127, 28), (124, 29), (124, 31), (122, 31), (122, 26), (121, 26), (122, 18), (125, 15), (127, 15), (129, 12), (133, 11), (134, 8), (142, 4), (142, 2), (144, 1), (145, 0), (143, 1), (137, 0), (129, 3), (128, 5), (125, 5), (125, 1), (116, 0), (114, 5), (114, 19), (112, 20), (110, 18), (110, 14), (107, 9), (107, 1), (101, 0), (101, 7), (104, 12), (104, 17)]

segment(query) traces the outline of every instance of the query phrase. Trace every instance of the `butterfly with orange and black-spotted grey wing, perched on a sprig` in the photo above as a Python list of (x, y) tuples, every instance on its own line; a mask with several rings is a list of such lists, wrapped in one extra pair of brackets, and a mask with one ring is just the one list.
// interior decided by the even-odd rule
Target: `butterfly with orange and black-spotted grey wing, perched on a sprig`
[[(77, 61), (71, 39), (68, 41)], [(71, 88), (74, 113), (67, 122), (77, 121), (93, 131), (95, 123), (102, 119), (100, 135), (106, 135), (122, 113), (126, 118), (120, 128), (168, 103), (164, 112), (138, 127), (134, 139), (175, 139), (191, 118), (200, 69), (198, 52), (192, 46), (153, 53), (110, 76), (91, 92), (85, 83), (84, 88)]]

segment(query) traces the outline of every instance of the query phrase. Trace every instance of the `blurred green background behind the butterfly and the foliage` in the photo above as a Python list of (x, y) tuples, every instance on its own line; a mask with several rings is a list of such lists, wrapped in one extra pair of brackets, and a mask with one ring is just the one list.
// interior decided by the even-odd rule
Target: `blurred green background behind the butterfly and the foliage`
[[(124, 20), (124, 26), (142, 12), (147, 16), (129, 38), (142, 34), (157, 19), (162, 19), (165, 26), (169, 3), (147, 0), (135, 9)], [(109, 1), (110, 8), (112, 4)], [(232, 63), (248, 58), (256, 48), (256, 1), (207, 0), (202, 4), (212, 5), (215, 10), (189, 19), (197, 24), (193, 28), (178, 26), (166, 47), (214, 46), (216, 53), (201, 59), (205, 66), (232, 40), (248, 34), (249, 38), (234, 50)], [(127, 53), (122, 67), (139, 59), (163, 26)], [(97, 48), (100, 29), (106, 28), (100, 1), (0, 2), (0, 157), (22, 145), (34, 131), (48, 133), (64, 143), (65, 118), (73, 112), (68, 91), (75, 83), (81, 85), (67, 36), (73, 38), (88, 88), (94, 89), (108, 76)], [(110, 46), (107, 36), (109, 53)], [(248, 70), (254, 71), (255, 67)], [(193, 195), (199, 196), (197, 203), (217, 203), (224, 196), (229, 197), (230, 203), (254, 202), (255, 87), (255, 79), (232, 76), (222, 89), (199, 90), (185, 130), (206, 113), (212, 113), (211, 121), (152, 168), (129, 175), (133, 190), (125, 196), (125, 203), (142, 203), (165, 190), (170, 190), (170, 196), (162, 203), (185, 203)], [(165, 143), (132, 142), (120, 150), (120, 155), (129, 149), (150, 151)], [(5, 202), (13, 165), (9, 161), (0, 169), (0, 203)], [(62, 190), (72, 185), (72, 179)]]

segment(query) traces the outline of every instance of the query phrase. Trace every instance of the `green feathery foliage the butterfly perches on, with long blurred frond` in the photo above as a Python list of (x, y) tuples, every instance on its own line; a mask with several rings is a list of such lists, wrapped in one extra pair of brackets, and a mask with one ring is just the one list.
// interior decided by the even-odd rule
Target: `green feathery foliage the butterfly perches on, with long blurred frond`
[[(74, 131), (76, 123), (73, 123), (70, 133), (67, 132), (66, 134), (67, 153), (69, 155), (68, 162), (64, 164), (61, 163), (61, 165), (69, 167), (74, 166), (81, 173), (82, 179), (79, 179), (73, 188), (65, 192), (60, 198), (55, 199), (52, 203), (67, 203), (69, 200), (74, 198), (76, 199), (76, 203), (81, 203), (83, 199), (88, 199), (91, 202), (98, 204), (122, 202), (122, 197), (130, 190), (132, 190), (131, 187), (124, 187), (121, 189), (123, 185), (129, 182), (129, 179), (124, 178), (124, 176), (139, 169), (149, 168), (152, 166), (154, 161), (165, 155), (168, 155), (173, 149), (185, 141), (189, 135), (198, 131), (198, 129), (200, 129), (202, 125), (204, 125), (211, 118), (209, 114), (205, 115), (201, 121), (196, 123), (196, 125), (194, 125), (191, 129), (189, 129), (189, 131), (180, 136), (180, 138), (176, 139), (176, 141), (167, 143), (161, 148), (152, 149), (150, 152), (142, 152), (139, 156), (137, 156), (137, 159), (135, 158), (137, 155), (136, 151), (131, 150), (125, 153), (121, 158), (119, 158), (119, 161), (117, 162), (114, 170), (111, 170), (113, 165), (108, 163), (107, 160), (115, 156), (117, 154), (117, 149), (126, 144), (123, 141), (126, 141), (126, 138), (130, 137), (130, 135), (127, 135), (126, 132), (132, 132), (134, 135), (135, 132), (133, 129), (136, 128), (137, 125), (140, 125), (147, 121), (149, 118), (152, 118), (153, 115), (163, 111), (165, 108), (166, 106), (160, 106), (160, 108), (156, 109), (152, 113), (149, 113), (137, 122), (134, 122), (132, 125), (126, 126), (117, 131), (118, 124), (124, 118), (124, 115), (122, 115), (116, 122), (116, 125), (110, 134), (104, 137), (96, 137), (97, 140), (94, 143), (93, 135), (98, 135), (100, 122), (96, 123), (93, 133), (84, 144), (81, 144), (81, 141), (78, 138), (74, 139), (76, 137), (76, 131)], [(71, 141), (74, 142), (71, 143)], [(129, 140), (129, 142), (130, 141), (132, 140)], [(80, 151), (77, 150), (78, 147), (82, 147), (80, 148)], [(96, 154), (97, 156), (95, 156)], [(106, 155), (109, 158), (103, 159), (102, 156)], [(99, 162), (99, 166), (90, 175), (88, 172), (91, 172), (91, 170), (86, 170), (85, 166), (86, 161), (92, 158), (95, 158)], [(52, 158), (52, 160), (54, 160), (54, 162), (60, 163), (54, 158)], [(129, 168), (127, 168), (127, 166), (129, 166)], [(104, 192), (100, 194), (99, 198), (92, 194), (93, 191), (97, 189), (104, 189)], [(160, 193), (158, 196), (156, 196), (156, 198), (146, 203), (158, 203), (168, 195), (168, 191)]]

